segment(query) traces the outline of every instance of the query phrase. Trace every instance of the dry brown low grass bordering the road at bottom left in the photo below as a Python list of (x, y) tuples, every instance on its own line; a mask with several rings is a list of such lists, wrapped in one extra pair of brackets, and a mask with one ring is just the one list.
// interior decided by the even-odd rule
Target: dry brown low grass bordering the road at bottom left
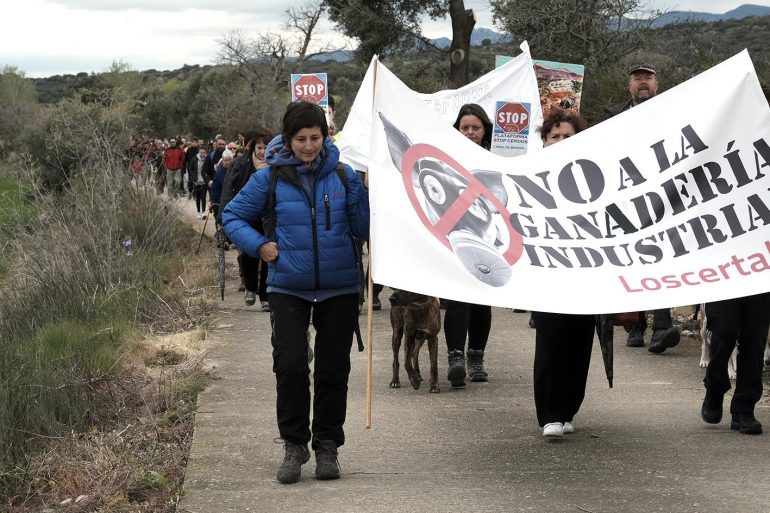
[(110, 425), (39, 439), (24, 496), (7, 511), (175, 511), (207, 380), (204, 326), (136, 343), (123, 372), (101, 385)]

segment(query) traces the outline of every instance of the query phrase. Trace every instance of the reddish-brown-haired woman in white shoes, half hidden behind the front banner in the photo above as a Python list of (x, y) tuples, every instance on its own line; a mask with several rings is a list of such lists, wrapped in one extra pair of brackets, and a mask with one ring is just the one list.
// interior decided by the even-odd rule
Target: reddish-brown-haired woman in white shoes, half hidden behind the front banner
[[(540, 128), (547, 147), (584, 130), (577, 112), (553, 108)], [(585, 397), (596, 321), (593, 315), (532, 312), (535, 321), (534, 389), (543, 436), (575, 432), (573, 418)]]

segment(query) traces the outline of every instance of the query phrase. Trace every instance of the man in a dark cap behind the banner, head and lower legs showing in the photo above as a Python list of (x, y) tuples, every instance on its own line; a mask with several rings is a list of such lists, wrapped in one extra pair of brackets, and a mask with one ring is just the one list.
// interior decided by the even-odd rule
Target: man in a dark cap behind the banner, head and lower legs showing
[[(658, 93), (658, 74), (655, 66), (649, 63), (634, 64), (628, 69), (628, 92), (631, 99), (612, 105), (605, 109), (608, 118), (621, 112), (636, 107), (640, 103), (649, 100)], [(626, 345), (630, 347), (644, 347), (644, 332), (647, 330), (647, 317), (645, 312), (639, 312), (639, 322), (626, 327), (628, 340)], [(653, 312), (652, 338), (649, 351), (662, 353), (669, 347), (679, 343), (679, 331), (671, 323), (671, 309), (661, 308)]]

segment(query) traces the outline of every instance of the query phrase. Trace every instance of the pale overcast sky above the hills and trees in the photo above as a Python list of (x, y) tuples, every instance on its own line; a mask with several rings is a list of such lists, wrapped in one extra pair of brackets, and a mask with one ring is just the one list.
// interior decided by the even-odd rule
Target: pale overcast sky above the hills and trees
[[(133, 69), (175, 69), (211, 64), (216, 40), (240, 29), (256, 34), (281, 28), (284, 11), (306, 0), (3, 0), (0, 67), (13, 65), (29, 77), (100, 72), (121, 60)], [(741, 4), (770, 0), (648, 0), (668, 10), (723, 13)], [(494, 28), (489, 0), (465, 0), (478, 27)], [(237, 6), (237, 7), (236, 7)], [(427, 36), (451, 37), (449, 19), (428, 21)], [(328, 22), (319, 36), (343, 43)]]

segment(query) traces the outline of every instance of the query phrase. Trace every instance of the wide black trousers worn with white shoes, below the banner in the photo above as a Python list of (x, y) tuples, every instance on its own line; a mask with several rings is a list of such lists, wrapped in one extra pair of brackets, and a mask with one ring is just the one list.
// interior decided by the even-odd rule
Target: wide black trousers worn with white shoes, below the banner
[(571, 422), (583, 404), (596, 322), (593, 315), (532, 312), (535, 409), (540, 427)]

